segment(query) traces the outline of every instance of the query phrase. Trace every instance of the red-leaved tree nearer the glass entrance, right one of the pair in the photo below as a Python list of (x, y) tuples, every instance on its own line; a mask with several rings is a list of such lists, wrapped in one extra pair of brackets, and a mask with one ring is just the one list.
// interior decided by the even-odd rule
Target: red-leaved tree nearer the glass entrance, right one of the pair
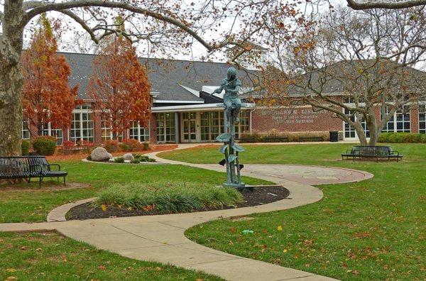
[(123, 35), (109, 37), (93, 61), (88, 92), (111, 124), (115, 140), (131, 121), (148, 126), (151, 85), (131, 42)]

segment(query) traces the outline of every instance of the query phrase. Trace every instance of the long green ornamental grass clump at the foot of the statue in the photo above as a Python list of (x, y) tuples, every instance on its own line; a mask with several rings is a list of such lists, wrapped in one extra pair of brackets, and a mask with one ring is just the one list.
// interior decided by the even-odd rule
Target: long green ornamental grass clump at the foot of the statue
[(173, 213), (235, 206), (243, 196), (231, 187), (195, 182), (111, 184), (99, 193), (97, 206)]

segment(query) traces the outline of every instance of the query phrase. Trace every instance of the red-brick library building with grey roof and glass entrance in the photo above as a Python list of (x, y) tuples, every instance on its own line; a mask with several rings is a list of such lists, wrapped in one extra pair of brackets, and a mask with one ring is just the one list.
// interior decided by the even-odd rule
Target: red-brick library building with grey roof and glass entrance
[[(107, 120), (96, 109), (96, 105), (87, 97), (86, 89), (92, 73), (94, 55), (63, 53), (71, 67), (70, 84), (79, 84), (79, 99), (84, 104), (73, 111), (72, 126), (68, 130), (51, 128), (47, 124), (44, 135), (55, 136), (63, 140), (89, 140), (102, 143), (111, 139), (111, 129)], [(146, 65), (151, 82), (152, 114), (149, 128), (143, 128), (133, 122), (129, 130), (121, 133), (120, 138), (135, 138), (151, 143), (202, 143), (214, 142), (222, 133), (223, 108), (222, 94), (209, 93), (219, 87), (229, 65), (217, 62), (190, 62), (184, 60), (163, 60), (141, 58)], [(249, 77), (245, 72), (238, 73), (243, 91), (249, 91)], [(244, 93), (243, 93), (244, 96)], [(337, 97), (344, 99), (343, 97)], [(347, 101), (349, 102), (349, 101)], [(405, 106), (395, 112), (393, 119), (383, 131), (426, 133), (426, 103), (420, 106)], [(380, 112), (376, 112), (378, 120)], [(237, 137), (242, 133), (268, 133), (277, 131), (339, 131), (341, 138), (355, 140), (354, 128), (328, 111), (312, 111), (310, 106), (291, 109), (270, 109), (247, 103), (241, 110), (240, 123), (236, 128)], [(364, 126), (365, 127), (365, 126)], [(23, 121), (23, 138), (36, 136), (36, 130), (29, 128)]]

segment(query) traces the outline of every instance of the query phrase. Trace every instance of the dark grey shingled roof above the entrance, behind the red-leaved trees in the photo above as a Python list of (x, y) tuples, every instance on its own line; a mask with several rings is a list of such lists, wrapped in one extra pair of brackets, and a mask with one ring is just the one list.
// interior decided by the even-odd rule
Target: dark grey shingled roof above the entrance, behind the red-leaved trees
[[(86, 94), (89, 77), (92, 75), (92, 61), (96, 55), (61, 53), (71, 67), (70, 85), (79, 84), (81, 99), (89, 99)], [(204, 101), (180, 86), (200, 92), (202, 86), (219, 86), (226, 77), (229, 65), (220, 62), (192, 62), (187, 60), (165, 60), (139, 58), (146, 65), (151, 92), (158, 94), (157, 100)], [(251, 87), (246, 72), (238, 73), (245, 87)]]

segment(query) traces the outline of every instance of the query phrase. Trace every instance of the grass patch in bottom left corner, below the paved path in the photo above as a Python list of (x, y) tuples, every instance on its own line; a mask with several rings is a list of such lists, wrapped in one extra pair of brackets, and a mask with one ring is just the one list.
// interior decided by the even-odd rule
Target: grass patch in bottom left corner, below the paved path
[(48, 233), (0, 233), (0, 280), (222, 280)]

